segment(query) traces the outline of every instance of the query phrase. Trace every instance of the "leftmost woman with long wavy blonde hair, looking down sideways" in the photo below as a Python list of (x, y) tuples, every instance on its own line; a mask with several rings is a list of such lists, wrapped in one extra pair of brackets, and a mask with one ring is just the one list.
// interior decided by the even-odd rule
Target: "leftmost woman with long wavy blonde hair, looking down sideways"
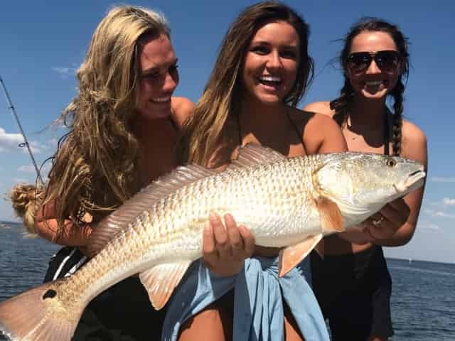
[[(193, 109), (188, 99), (172, 97), (178, 70), (170, 30), (149, 9), (113, 7), (92, 36), (77, 80), (77, 95), (60, 118), (69, 131), (53, 156), (45, 195), (27, 206), (32, 215), (39, 207), (28, 228), (67, 246), (50, 261), (46, 281), (82, 266), (97, 223), (177, 166), (178, 130)], [(24, 213), (21, 193), (33, 200), (35, 190), (22, 186), (12, 195)], [(127, 278), (90, 303), (73, 340), (150, 340), (159, 337), (163, 318), (139, 279)]]

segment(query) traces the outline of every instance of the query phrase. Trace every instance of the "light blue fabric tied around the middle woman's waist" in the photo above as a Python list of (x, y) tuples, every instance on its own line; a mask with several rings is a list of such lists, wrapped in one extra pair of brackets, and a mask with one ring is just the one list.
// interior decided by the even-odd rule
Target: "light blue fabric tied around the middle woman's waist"
[(217, 276), (202, 260), (195, 261), (168, 303), (162, 340), (177, 340), (178, 330), (188, 318), (234, 287), (234, 341), (284, 340), (282, 298), (306, 341), (329, 340), (305, 274), (310, 274), (309, 257), (282, 278), (278, 277), (278, 257), (246, 259), (242, 271), (230, 277)]

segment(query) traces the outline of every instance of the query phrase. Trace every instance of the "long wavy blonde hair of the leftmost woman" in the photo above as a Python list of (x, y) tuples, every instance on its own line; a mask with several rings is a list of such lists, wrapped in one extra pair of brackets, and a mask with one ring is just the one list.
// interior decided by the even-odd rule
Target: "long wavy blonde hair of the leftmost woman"
[(161, 34), (170, 37), (164, 16), (138, 6), (114, 6), (95, 29), (77, 70), (77, 96), (59, 119), (70, 131), (48, 175), (45, 203), (55, 204), (59, 226), (68, 218), (79, 224), (86, 213), (97, 222), (139, 190), (140, 146), (131, 127), (139, 51), (145, 38)]

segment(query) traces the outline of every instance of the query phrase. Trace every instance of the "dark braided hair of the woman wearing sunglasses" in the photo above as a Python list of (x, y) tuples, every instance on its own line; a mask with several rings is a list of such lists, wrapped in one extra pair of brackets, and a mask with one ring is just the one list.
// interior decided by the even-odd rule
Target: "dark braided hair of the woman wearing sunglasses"
[(385, 32), (392, 37), (395, 45), (397, 45), (398, 53), (400, 54), (400, 67), (401, 73), (397, 80), (397, 85), (393, 88), (388, 95), (394, 99), (393, 114), (392, 114), (392, 150), (393, 155), (400, 155), (401, 153), (401, 141), (402, 141), (402, 112), (403, 112), (403, 93), (405, 92), (405, 85), (403, 84), (403, 78), (407, 80), (409, 75), (409, 53), (407, 51), (408, 40), (400, 31), (398, 26), (387, 23), (387, 21), (380, 20), (378, 18), (362, 18), (358, 23), (350, 28), (350, 31), (344, 39), (344, 48), (341, 50), (340, 64), (343, 67), (344, 72), (344, 85), (340, 91), (340, 97), (330, 102), (330, 108), (335, 110), (333, 119), (340, 125), (343, 126), (348, 120), (348, 109), (352, 105), (354, 89), (350, 84), (348, 77), (346, 76), (347, 60), (350, 53), (350, 47), (353, 39), (363, 32), (380, 31)]

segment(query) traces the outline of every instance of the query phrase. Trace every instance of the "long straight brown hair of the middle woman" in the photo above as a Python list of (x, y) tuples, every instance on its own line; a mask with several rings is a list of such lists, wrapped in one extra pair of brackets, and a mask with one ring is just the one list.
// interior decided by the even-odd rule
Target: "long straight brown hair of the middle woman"
[[(235, 118), (242, 102), (242, 67), (255, 33), (264, 24), (284, 21), (293, 26), (300, 40), (300, 62), (294, 86), (284, 104), (296, 107), (313, 77), (313, 60), (308, 55), (309, 26), (289, 6), (264, 1), (247, 7), (231, 24), (202, 97), (183, 126), (177, 154), (181, 163), (219, 165), (223, 146), (238, 139)], [(215, 159), (213, 155), (215, 154)]]

